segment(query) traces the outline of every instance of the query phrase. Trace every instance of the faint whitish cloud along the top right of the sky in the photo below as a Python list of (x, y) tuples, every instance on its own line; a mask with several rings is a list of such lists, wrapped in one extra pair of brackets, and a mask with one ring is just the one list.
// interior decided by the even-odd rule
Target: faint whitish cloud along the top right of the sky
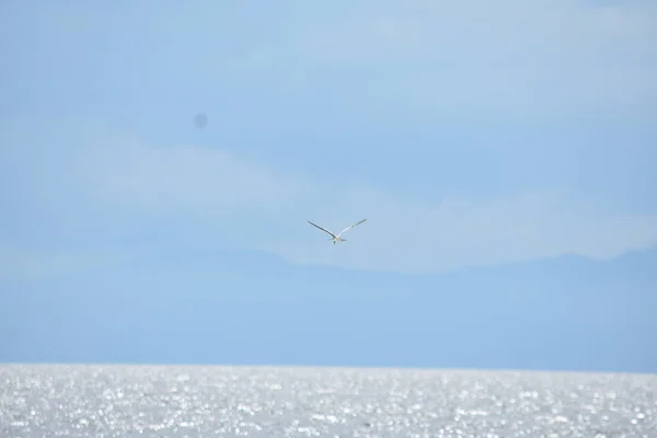
[[(472, 0), (369, 2), (342, 21), (309, 31), (310, 59), (397, 60), (449, 67), (510, 65), (572, 68), (657, 61), (657, 8), (579, 1)], [(311, 53), (312, 50), (312, 53)], [(566, 65), (550, 65), (562, 61)], [(434, 64), (433, 64), (434, 62)]]

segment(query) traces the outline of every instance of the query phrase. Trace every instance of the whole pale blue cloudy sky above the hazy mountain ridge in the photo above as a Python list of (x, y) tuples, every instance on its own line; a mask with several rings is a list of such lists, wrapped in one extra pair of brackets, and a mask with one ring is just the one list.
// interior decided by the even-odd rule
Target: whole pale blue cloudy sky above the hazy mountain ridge
[(3, 275), (155, 234), (402, 273), (654, 245), (655, 41), (650, 1), (4, 1)]

